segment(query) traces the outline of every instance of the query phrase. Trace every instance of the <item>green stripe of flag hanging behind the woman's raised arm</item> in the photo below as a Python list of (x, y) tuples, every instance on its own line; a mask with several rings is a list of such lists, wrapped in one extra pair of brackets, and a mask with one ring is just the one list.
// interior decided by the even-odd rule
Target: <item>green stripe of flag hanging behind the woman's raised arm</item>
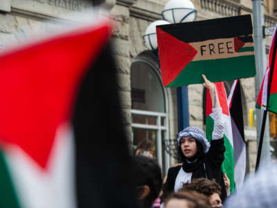
[[(214, 121), (211, 116), (206, 116), (206, 137), (208, 141), (211, 142), (213, 135), (213, 125)], [(235, 191), (235, 162), (233, 157), (233, 147), (229, 139), (224, 135), (224, 146), (226, 148), (224, 153), (224, 162), (222, 164), (222, 172), (226, 173), (230, 180), (230, 191), (233, 193)]]

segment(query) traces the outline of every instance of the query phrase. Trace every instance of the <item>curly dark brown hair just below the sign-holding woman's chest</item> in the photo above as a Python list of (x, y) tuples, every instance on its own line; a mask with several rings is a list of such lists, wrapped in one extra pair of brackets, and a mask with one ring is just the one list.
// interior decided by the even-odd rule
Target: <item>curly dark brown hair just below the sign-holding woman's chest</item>
[(213, 193), (221, 194), (221, 187), (215, 180), (208, 180), (204, 177), (191, 180), (190, 183), (183, 185), (182, 191), (197, 191), (206, 196), (211, 196)]

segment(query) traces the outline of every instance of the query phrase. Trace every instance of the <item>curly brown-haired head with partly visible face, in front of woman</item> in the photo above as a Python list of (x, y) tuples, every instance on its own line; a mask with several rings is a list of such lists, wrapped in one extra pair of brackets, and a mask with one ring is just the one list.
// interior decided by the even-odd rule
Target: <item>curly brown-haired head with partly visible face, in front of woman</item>
[(221, 187), (215, 180), (196, 178), (190, 183), (185, 183), (181, 191), (197, 191), (208, 196), (211, 207), (222, 207), (222, 200), (220, 199)]

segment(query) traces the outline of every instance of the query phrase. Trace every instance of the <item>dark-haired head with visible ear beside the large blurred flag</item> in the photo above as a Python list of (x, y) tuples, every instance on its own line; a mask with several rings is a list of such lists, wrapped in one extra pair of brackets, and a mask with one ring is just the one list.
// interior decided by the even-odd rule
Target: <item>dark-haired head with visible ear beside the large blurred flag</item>
[(132, 163), (132, 174), (136, 179), (136, 193), (141, 207), (149, 208), (161, 191), (161, 168), (153, 159), (140, 155), (133, 156)]

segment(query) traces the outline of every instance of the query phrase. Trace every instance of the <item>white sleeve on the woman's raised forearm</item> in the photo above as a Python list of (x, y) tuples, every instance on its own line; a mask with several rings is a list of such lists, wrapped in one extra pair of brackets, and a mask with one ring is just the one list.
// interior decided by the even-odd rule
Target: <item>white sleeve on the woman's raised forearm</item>
[(213, 140), (222, 139), (224, 135), (224, 118), (222, 115), (221, 107), (214, 107), (213, 109), (213, 119), (214, 119), (214, 127), (213, 127)]

